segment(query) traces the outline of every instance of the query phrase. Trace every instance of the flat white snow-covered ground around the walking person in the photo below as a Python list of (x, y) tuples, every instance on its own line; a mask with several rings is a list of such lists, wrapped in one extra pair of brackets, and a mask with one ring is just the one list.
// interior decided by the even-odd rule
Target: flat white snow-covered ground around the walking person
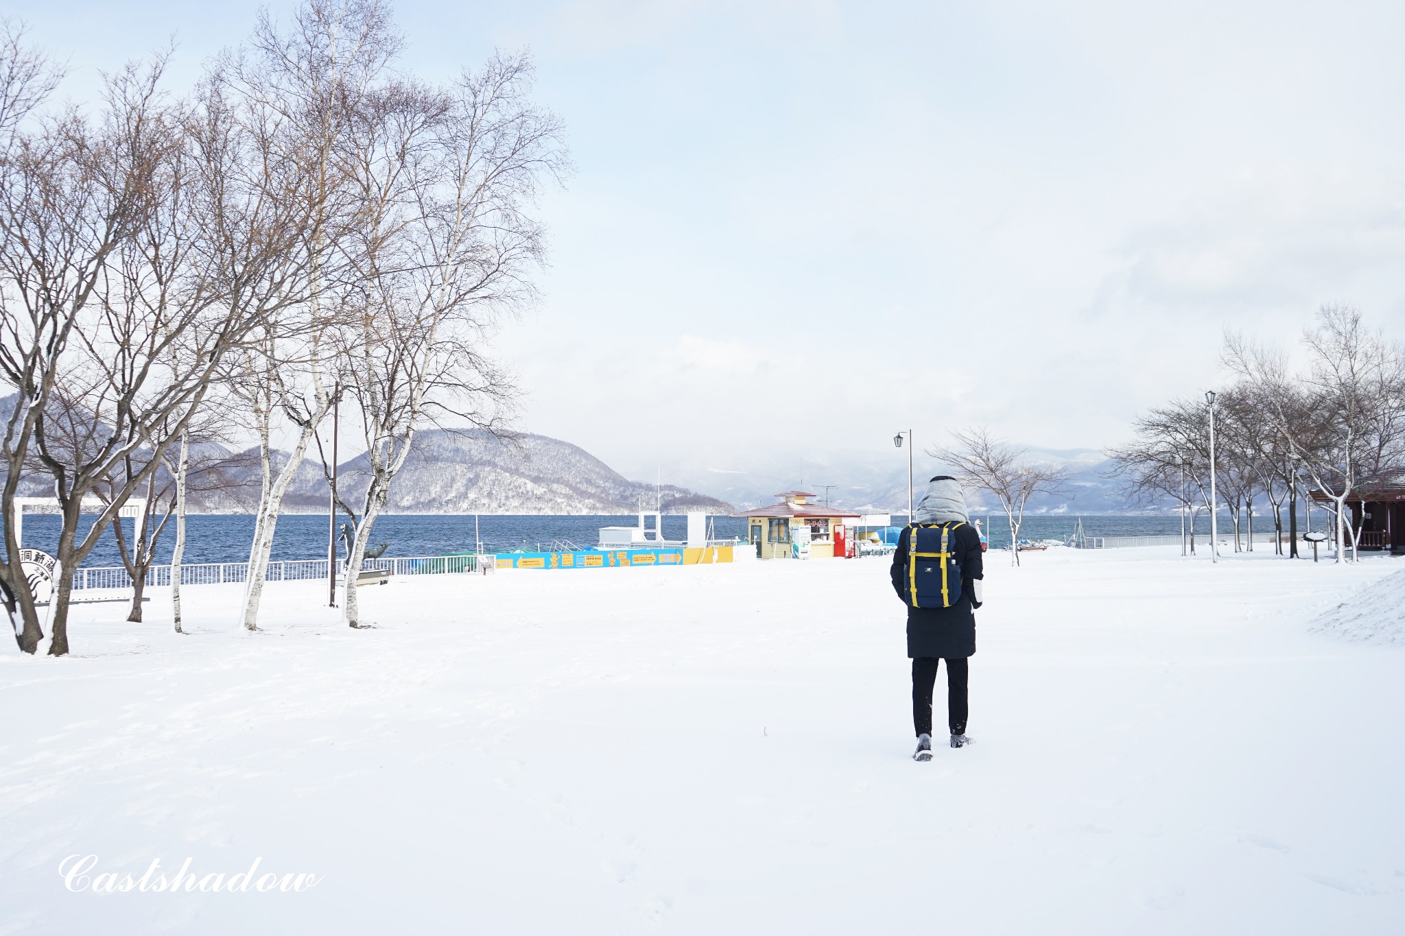
[(992, 554), (932, 763), (881, 560), (90, 605), (0, 653), (0, 933), (1405, 932), (1405, 648), (1311, 630), (1402, 564), (1176, 551)]

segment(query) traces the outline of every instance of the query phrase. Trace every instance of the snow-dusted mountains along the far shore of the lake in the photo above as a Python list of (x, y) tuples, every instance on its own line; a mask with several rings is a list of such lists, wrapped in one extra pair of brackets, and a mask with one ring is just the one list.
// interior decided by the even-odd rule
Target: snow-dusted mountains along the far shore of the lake
[[(0, 414), (13, 406), (13, 396), (0, 399)], [(947, 472), (946, 466), (920, 448), (919, 439), (913, 466), (919, 495), (926, 487), (926, 479)], [(309, 455), (285, 500), (285, 509), (291, 512), (326, 511), (327, 483), (316, 448)], [(1097, 449), (1031, 448), (1030, 456), (1062, 464), (1072, 473), (1072, 497), (1040, 495), (1031, 501), (1030, 512), (1137, 512), (1137, 505), (1128, 504), (1121, 495), (1120, 483), (1109, 476), (1110, 463)], [(275, 463), (285, 457), (275, 453)], [(246, 457), (244, 462), (243, 466), (221, 469), (218, 479), (207, 479), (204, 487), (208, 490), (191, 490), (191, 509), (208, 514), (251, 512), (259, 498), (259, 467), (256, 457)], [(433, 429), (416, 438), (410, 460), (392, 484), (388, 511), (631, 514), (639, 507), (652, 509), (659, 504), (665, 512), (707, 509), (721, 514), (732, 512), (733, 504), (740, 508), (771, 504), (774, 494), (797, 487), (821, 497), (828, 495), (832, 504), (856, 511), (881, 514), (908, 509), (908, 453), (894, 448), (873, 452), (808, 452), (804, 457), (762, 455), (743, 459), (688, 452), (662, 462), (659, 470), (673, 479), (674, 484), (656, 490), (648, 481), (631, 481), (584, 449), (545, 435), (520, 435), (513, 441), (503, 441), (486, 432)], [(364, 456), (339, 467), (339, 487), (348, 502), (354, 504), (364, 493)], [(648, 473), (653, 473), (652, 464)], [(46, 476), (21, 481), (22, 495), (46, 495), (52, 491), (53, 481)], [(999, 509), (989, 495), (969, 491), (968, 498), (975, 511)]]

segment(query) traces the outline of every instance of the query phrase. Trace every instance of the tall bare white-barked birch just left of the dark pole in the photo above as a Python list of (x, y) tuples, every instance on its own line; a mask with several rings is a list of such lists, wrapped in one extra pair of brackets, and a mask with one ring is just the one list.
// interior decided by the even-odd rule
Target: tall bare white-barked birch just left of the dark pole
[[(361, 225), (353, 184), (358, 164), (351, 149), (353, 119), (385, 83), (399, 48), (385, 3), (309, 0), (287, 28), (261, 15), (244, 53), (228, 56), (211, 73), (212, 93), (228, 101), (256, 147), (298, 164), (308, 180), (299, 192), (308, 225), (299, 232), (298, 250), (308, 258), (312, 288), (305, 302), (264, 323), (260, 341), (250, 344), (229, 377), (251, 415), (261, 462), (263, 487), (240, 608), (249, 630), (259, 626), (264, 570), (282, 500), (332, 407), (339, 363), (330, 337), (346, 314), (343, 274), (355, 274), (347, 234)], [(291, 427), (295, 441), (275, 466), (273, 429), (280, 421)]]

